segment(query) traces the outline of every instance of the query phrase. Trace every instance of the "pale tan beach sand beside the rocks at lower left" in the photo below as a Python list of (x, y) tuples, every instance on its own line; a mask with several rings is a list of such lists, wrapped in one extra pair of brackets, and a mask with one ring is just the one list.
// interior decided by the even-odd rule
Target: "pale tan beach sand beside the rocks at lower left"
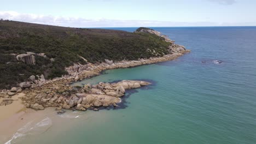
[[(43, 111), (35, 111), (33, 109), (26, 109), (21, 104), (21, 99), (24, 93), (14, 95), (14, 101), (10, 105), (0, 106), (0, 143), (5, 143), (13, 137), (13, 135), (20, 128), (24, 127), (27, 123), (39, 122), (46, 117), (46, 115), (55, 114), (53, 108), (49, 108)], [(0, 102), (2, 99), (0, 100)]]

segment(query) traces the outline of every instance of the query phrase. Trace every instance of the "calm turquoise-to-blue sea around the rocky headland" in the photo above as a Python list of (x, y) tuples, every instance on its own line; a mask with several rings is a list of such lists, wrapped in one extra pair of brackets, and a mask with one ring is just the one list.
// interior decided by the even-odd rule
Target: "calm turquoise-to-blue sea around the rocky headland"
[(127, 79), (153, 85), (129, 91), (119, 109), (49, 116), (53, 125), (47, 131), (14, 142), (256, 143), (256, 27), (154, 29), (191, 53), (174, 61), (107, 70), (80, 82)]

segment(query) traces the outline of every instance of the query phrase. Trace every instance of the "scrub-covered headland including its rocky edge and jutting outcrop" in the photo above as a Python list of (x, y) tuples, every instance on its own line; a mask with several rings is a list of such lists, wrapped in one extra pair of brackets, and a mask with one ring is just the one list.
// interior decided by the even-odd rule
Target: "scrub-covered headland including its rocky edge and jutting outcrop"
[(97, 110), (118, 106), (125, 89), (150, 85), (145, 81), (86, 84), (74, 81), (102, 70), (170, 61), (190, 52), (150, 28), (135, 32), (69, 28), (0, 21), (0, 105), (22, 93), (27, 108)]

